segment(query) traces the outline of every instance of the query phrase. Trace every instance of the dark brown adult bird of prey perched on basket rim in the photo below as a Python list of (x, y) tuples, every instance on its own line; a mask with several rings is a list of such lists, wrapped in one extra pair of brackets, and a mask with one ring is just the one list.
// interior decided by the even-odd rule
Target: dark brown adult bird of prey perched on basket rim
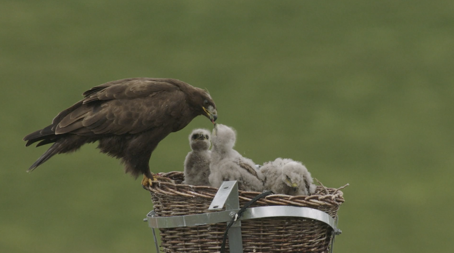
[(153, 180), (148, 162), (158, 143), (198, 115), (213, 123), (216, 105), (207, 91), (177, 79), (130, 78), (85, 91), (84, 99), (60, 112), (52, 124), (27, 136), (25, 146), (53, 143), (31, 171), (55, 154), (99, 141), (102, 153), (121, 159), (126, 173)]

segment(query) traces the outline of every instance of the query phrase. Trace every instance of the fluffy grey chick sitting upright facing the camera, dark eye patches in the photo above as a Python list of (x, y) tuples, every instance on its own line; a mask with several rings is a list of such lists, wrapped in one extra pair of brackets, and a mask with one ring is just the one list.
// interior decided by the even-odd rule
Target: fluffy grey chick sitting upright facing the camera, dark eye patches
[(189, 145), (192, 151), (184, 160), (183, 184), (210, 185), (210, 132), (207, 129), (194, 129), (189, 134)]

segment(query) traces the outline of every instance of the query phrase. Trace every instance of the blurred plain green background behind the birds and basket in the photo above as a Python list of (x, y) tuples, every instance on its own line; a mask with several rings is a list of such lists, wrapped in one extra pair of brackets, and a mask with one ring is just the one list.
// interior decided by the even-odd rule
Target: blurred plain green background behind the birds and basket
[[(0, 2), (0, 252), (154, 252), (140, 180), (95, 144), (25, 170), (21, 139), (116, 79), (207, 88), (218, 123), (257, 164), (306, 164), (350, 186), (335, 251), (449, 252), (454, 176), (454, 2)], [(183, 169), (194, 128), (153, 172)]]

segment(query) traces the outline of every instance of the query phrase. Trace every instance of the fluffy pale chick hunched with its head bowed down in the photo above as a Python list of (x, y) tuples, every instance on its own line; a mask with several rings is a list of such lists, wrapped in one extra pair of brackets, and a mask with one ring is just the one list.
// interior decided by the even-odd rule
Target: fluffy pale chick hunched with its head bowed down
[(265, 176), (265, 189), (273, 193), (293, 196), (315, 193), (311, 173), (301, 162), (277, 158), (263, 164), (260, 171)]

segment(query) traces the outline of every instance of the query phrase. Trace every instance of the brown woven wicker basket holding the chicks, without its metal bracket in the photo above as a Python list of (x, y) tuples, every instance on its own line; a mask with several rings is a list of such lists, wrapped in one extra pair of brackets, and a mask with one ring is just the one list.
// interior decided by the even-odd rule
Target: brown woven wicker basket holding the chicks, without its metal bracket
[[(156, 216), (214, 212), (207, 209), (216, 195), (217, 188), (181, 184), (184, 178), (183, 172), (179, 171), (159, 175), (172, 179), (175, 184), (158, 180), (153, 181), (148, 188)], [(337, 211), (345, 201), (341, 189), (347, 185), (339, 189), (317, 186), (316, 193), (311, 196), (268, 195), (251, 207), (272, 205), (310, 207), (328, 213), (336, 219)], [(238, 191), (238, 194), (242, 207), (260, 193)], [(333, 232), (326, 223), (308, 218), (259, 218), (242, 220), (241, 223), (244, 252), (328, 252)], [(225, 229), (226, 223), (160, 228), (161, 246), (164, 252), (172, 253), (219, 252)]]

